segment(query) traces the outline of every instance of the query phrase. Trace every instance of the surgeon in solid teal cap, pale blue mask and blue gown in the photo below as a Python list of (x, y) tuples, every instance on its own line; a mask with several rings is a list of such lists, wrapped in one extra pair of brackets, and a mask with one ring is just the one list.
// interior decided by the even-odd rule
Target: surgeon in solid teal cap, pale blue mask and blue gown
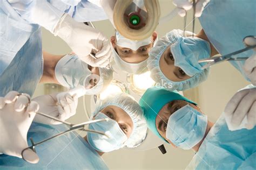
[(255, 124), (230, 131), (224, 115), (213, 123), (196, 103), (165, 88), (147, 89), (139, 104), (156, 136), (196, 152), (187, 169), (256, 168)]

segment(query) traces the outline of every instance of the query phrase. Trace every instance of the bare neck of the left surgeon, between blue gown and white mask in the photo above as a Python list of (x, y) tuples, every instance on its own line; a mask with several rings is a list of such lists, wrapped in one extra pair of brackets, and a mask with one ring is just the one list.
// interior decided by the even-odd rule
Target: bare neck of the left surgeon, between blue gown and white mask
[(43, 76), (41, 77), (41, 80), (39, 83), (56, 83), (59, 84), (59, 82), (56, 79), (55, 76), (55, 67), (57, 65), (57, 62), (63, 57), (64, 55), (52, 55), (47, 52), (43, 52), (43, 58), (44, 58), (44, 72)]

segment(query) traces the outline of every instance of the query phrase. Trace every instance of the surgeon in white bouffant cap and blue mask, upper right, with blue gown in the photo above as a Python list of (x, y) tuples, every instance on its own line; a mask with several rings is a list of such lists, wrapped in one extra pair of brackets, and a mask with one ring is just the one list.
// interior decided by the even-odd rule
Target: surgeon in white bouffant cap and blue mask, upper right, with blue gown
[[(203, 30), (194, 37), (184, 36), (181, 30), (173, 30), (160, 38), (156, 47), (151, 49), (148, 67), (152, 79), (170, 84), (166, 88), (171, 90), (186, 90), (205, 81), (209, 69), (203, 70), (206, 63), (198, 63), (198, 60), (245, 48), (244, 38), (256, 35), (254, 6), (254, 1), (208, 2), (199, 17)], [(251, 49), (235, 56), (244, 58), (252, 54)], [(250, 78), (250, 73), (246, 73), (245, 60), (230, 63), (246, 80), (254, 81), (255, 78)]]

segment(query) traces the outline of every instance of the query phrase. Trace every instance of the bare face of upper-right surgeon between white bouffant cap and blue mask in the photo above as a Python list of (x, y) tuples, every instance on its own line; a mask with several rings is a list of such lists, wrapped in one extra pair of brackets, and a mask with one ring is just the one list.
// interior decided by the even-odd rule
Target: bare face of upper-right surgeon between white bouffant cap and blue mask
[(168, 47), (165, 50), (165, 52), (161, 55), (159, 61), (161, 71), (167, 77), (167, 79), (174, 82), (189, 79), (190, 76), (186, 75), (186, 73), (181, 68), (174, 66), (174, 58), (170, 48), (171, 47)]

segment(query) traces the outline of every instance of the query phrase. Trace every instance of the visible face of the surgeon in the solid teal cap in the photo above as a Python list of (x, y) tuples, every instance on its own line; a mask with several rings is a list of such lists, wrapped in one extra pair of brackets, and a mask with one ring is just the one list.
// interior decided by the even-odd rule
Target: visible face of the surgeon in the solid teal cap
[(169, 141), (170, 144), (172, 144), (172, 142), (166, 138), (166, 128), (167, 128), (167, 123), (168, 123), (169, 117), (174, 112), (176, 112), (177, 110), (179, 110), (180, 108), (184, 107), (187, 104), (191, 105), (191, 107), (198, 110), (199, 112), (202, 112), (198, 106), (188, 103), (186, 101), (182, 101), (182, 100), (176, 100), (176, 101), (167, 103), (158, 112), (158, 115), (156, 118), (157, 131), (163, 138), (165, 138), (167, 141)]

